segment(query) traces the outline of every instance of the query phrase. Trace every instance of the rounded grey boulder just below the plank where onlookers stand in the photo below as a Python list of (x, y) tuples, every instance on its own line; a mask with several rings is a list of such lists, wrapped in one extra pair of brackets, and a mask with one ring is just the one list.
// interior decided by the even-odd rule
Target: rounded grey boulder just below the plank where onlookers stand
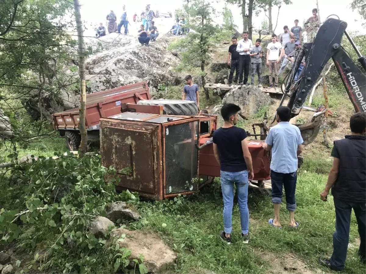
[(227, 103), (237, 104), (242, 109), (242, 114), (250, 117), (261, 107), (268, 106), (271, 98), (258, 87), (243, 85), (225, 94), (223, 104)]

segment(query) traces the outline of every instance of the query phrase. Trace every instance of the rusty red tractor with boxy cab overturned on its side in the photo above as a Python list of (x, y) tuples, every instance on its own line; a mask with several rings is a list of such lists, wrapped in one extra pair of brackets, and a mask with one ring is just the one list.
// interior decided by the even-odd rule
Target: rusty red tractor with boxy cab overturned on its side
[[(116, 168), (117, 189), (161, 200), (194, 193), (220, 176), (211, 141), (217, 115), (161, 115), (161, 106), (128, 105), (100, 119), (101, 164)], [(254, 179), (269, 179), (269, 159), (260, 141), (250, 141), (249, 149)]]

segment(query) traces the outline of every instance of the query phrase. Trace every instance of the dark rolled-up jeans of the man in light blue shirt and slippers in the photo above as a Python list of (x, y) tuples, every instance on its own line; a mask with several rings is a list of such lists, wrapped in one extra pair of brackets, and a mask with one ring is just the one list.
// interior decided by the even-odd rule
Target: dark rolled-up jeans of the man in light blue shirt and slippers
[(286, 208), (290, 211), (295, 211), (295, 190), (297, 181), (297, 171), (292, 173), (280, 173), (271, 170), (272, 184), (272, 202), (282, 202), (282, 186), (285, 189)]

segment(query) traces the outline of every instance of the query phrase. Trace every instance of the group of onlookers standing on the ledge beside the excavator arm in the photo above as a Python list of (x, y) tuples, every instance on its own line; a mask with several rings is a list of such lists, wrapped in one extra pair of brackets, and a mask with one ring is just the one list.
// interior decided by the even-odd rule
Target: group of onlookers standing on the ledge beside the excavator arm
[[(319, 19), (317, 9), (313, 9), (313, 16), (306, 22), (306, 32), (308, 42), (313, 42), (318, 31)], [(266, 64), (269, 71), (269, 87), (277, 88), (278, 77), (283, 72), (288, 64), (293, 64), (301, 49), (302, 27), (299, 25), (299, 20), (294, 21), (294, 26), (289, 29), (288, 26), (283, 27), (283, 33), (279, 36), (272, 34), (271, 42), (267, 46)], [(230, 65), (230, 74), (228, 84), (232, 85), (233, 76), (235, 73), (235, 84), (249, 84), (248, 77), (251, 72), (250, 84), (254, 85), (254, 76), (258, 74), (259, 87), (262, 86), (262, 47), (261, 39), (257, 39), (255, 44), (248, 39), (247, 31), (243, 32), (243, 39), (238, 41), (237, 37), (232, 38), (232, 45), (229, 47), (227, 62)], [(298, 71), (295, 73), (295, 81), (298, 80), (305, 58), (303, 58)], [(243, 77), (244, 76), (244, 77)], [(273, 83), (273, 78), (275, 83)], [(239, 82), (238, 82), (239, 81)]]

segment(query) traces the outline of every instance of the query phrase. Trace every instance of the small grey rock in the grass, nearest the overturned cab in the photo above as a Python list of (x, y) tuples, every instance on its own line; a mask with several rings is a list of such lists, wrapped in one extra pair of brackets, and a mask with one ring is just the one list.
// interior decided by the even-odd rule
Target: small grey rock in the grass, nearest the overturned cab
[(114, 202), (105, 207), (107, 218), (116, 222), (117, 220), (134, 220), (140, 219), (140, 214), (133, 208), (131, 204), (125, 202)]

